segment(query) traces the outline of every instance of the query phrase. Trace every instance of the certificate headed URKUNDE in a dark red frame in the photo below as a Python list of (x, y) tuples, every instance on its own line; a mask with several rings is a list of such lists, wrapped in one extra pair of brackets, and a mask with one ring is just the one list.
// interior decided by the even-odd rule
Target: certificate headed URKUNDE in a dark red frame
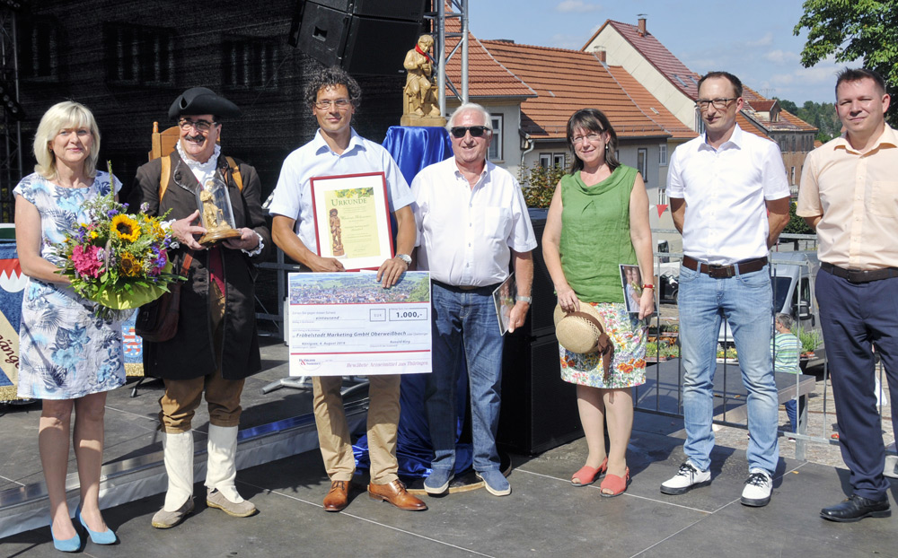
[(383, 172), (311, 180), (318, 255), (347, 271), (377, 269), (393, 257), (390, 205)]

